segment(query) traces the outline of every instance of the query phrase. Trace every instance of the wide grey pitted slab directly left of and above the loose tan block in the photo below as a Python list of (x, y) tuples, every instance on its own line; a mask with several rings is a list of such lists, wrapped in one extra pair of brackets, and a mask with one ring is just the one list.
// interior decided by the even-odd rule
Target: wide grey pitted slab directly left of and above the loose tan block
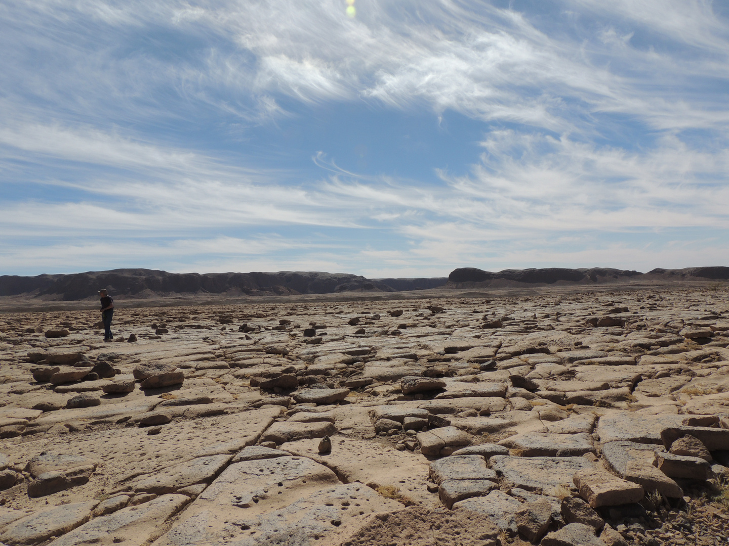
[(496, 470), (512, 487), (548, 493), (551, 488), (572, 484), (574, 472), (593, 468), (585, 457), (515, 457), (496, 455), (489, 459)]

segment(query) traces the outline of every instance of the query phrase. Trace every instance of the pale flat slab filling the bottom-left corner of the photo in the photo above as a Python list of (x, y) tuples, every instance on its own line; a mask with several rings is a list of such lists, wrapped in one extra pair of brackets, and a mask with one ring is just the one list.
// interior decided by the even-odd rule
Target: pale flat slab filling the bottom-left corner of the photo
[(0, 541), (12, 546), (30, 546), (76, 529), (91, 518), (98, 501), (75, 502), (41, 510), (10, 523)]

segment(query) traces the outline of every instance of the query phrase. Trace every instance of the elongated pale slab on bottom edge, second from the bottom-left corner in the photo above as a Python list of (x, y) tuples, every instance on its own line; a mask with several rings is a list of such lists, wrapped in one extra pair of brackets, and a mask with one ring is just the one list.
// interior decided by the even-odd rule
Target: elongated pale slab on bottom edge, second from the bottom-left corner
[(162, 495), (141, 505), (117, 510), (113, 514), (84, 523), (51, 542), (52, 546), (142, 546), (159, 536), (160, 526), (190, 502), (185, 495)]

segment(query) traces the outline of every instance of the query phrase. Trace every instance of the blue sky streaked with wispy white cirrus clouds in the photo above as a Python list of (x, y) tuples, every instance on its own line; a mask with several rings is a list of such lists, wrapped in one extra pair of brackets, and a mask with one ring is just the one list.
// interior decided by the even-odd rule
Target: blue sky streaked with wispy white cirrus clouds
[(729, 3), (0, 0), (0, 274), (729, 265)]

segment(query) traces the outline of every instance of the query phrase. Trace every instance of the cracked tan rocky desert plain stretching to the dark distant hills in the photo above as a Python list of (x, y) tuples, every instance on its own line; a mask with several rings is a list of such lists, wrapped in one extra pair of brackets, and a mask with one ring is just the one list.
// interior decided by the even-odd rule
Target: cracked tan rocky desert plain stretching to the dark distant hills
[(344, 296), (2, 312), (0, 543), (728, 543), (726, 288)]

